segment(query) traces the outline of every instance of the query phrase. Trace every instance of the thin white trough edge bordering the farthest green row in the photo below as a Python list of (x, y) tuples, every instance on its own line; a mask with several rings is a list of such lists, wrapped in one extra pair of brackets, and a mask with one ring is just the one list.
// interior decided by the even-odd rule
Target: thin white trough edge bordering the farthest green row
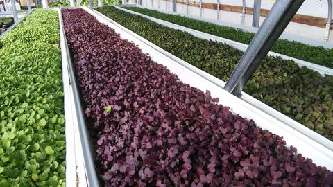
[[(123, 10), (125, 12), (131, 13), (133, 15), (139, 15), (139, 16), (145, 17), (145, 18), (147, 18), (151, 21), (154, 21), (158, 24), (162, 24), (163, 26), (167, 26), (169, 28), (174, 28), (174, 29), (177, 29), (177, 30), (182, 30), (182, 31), (187, 32), (191, 35), (194, 35), (195, 37), (198, 37), (200, 39), (207, 39), (207, 40), (212, 40), (212, 41), (216, 41), (216, 42), (225, 43), (225, 44), (228, 44), (229, 46), (231, 46), (232, 48), (236, 48), (236, 49), (238, 49), (240, 51), (243, 51), (243, 52), (246, 51), (246, 49), (248, 48), (247, 44), (243, 44), (243, 43), (240, 43), (240, 42), (235, 42), (233, 40), (225, 39), (223, 37), (217, 37), (215, 35), (211, 35), (211, 34), (208, 34), (208, 33), (203, 33), (201, 31), (194, 30), (194, 29), (191, 29), (191, 28), (187, 28), (185, 26), (172, 24), (168, 21), (164, 21), (162, 19), (157, 19), (155, 17), (150, 17), (148, 15), (144, 15), (144, 14), (141, 14), (139, 12), (134, 12), (134, 11), (128, 10), (126, 8), (121, 8), (119, 6), (114, 6), (114, 7), (118, 8), (119, 10)], [(275, 53), (273, 51), (270, 51), (268, 53), (268, 55), (276, 56), (276, 57), (282, 57), (282, 59), (284, 59), (284, 60), (293, 60), (293, 61), (296, 62), (296, 64), (298, 64), (298, 66), (300, 66), (300, 67), (306, 66), (308, 69), (312, 69), (314, 71), (317, 71), (318, 73), (321, 73), (321, 75), (325, 75), (325, 74), (333, 75), (333, 69), (327, 68), (325, 66), (321, 66), (321, 65), (318, 65), (318, 64), (307, 62), (305, 60), (299, 60), (295, 57), (289, 57), (287, 55), (281, 55), (281, 54)]]

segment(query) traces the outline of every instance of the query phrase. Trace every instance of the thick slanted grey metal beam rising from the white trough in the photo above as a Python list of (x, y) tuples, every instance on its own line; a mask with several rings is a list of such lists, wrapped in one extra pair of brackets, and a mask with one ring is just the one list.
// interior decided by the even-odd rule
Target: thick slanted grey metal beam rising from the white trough
[(238, 96), (305, 0), (276, 0), (224, 89)]

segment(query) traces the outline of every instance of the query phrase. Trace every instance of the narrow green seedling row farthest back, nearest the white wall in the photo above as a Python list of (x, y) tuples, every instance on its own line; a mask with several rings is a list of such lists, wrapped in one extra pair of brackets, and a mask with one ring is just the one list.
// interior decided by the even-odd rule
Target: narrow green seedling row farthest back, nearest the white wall
[[(123, 8), (162, 19), (164, 21), (169, 21), (173, 24), (185, 26), (194, 30), (200, 30), (204, 33), (209, 33), (226, 39), (232, 39), (236, 42), (241, 42), (244, 44), (250, 44), (251, 40), (255, 36), (253, 33), (249, 33), (238, 28), (219, 26), (180, 15), (170, 15), (158, 12), (156, 10), (149, 10), (146, 8), (138, 7)], [(315, 64), (333, 68), (333, 49), (323, 48), (322, 46), (309, 46), (307, 44), (302, 44), (296, 41), (289, 41), (287, 39), (278, 39), (278, 41), (274, 44), (272, 51), (282, 55), (296, 57), (307, 62), (313, 62)]]

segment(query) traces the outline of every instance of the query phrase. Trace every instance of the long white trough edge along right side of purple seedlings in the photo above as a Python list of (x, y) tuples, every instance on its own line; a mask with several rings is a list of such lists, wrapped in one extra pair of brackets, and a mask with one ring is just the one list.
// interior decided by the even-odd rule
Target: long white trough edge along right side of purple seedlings
[[(101, 23), (113, 28), (123, 39), (127, 39), (128, 41), (131, 41), (139, 46), (139, 48), (142, 48), (142, 52), (148, 53), (153, 61), (167, 66), (172, 73), (178, 75), (178, 78), (182, 82), (190, 84), (192, 87), (196, 87), (202, 91), (210, 90), (212, 97), (219, 98), (219, 104), (229, 106), (234, 114), (240, 114), (247, 119), (253, 119), (259, 127), (262, 127), (262, 129), (269, 130), (274, 134), (283, 136), (287, 145), (293, 145), (296, 147), (298, 152), (303, 156), (311, 158), (314, 163), (319, 166), (325, 166), (329, 170), (333, 170), (332, 142), (327, 140), (328, 146), (326, 146), (321, 142), (309, 138), (309, 136), (299, 132), (286, 123), (283, 123), (278, 118), (268, 115), (257, 107), (254, 107), (244, 100), (229, 94), (221, 87), (221, 85), (216, 84), (216, 82), (221, 82), (221, 80), (200, 71), (200, 69), (196, 69), (194, 66), (191, 66), (184, 61), (182, 61), (182, 64), (176, 62), (169, 55), (165, 55), (165, 51), (161, 52), (160, 48), (157, 46), (154, 47), (153, 44), (148, 45), (148, 41), (146, 41), (146, 39), (130, 30), (126, 30), (126, 28), (115, 23), (111, 19), (108, 19), (107, 17), (102, 16), (89, 8), (83, 7), (83, 9), (91, 15), (94, 15), (94, 17), (96, 17), (96, 19), (98, 19)], [(216, 82), (212, 80), (215, 80)], [(323, 136), (318, 134), (316, 137), (318, 139), (325, 140)]]

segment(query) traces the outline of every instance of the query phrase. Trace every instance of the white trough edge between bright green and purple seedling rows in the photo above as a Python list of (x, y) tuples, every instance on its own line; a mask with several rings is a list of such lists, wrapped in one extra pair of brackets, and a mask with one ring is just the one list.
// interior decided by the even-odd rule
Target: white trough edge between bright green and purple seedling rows
[(60, 24), (60, 48), (62, 59), (62, 84), (64, 87), (65, 107), (65, 136), (66, 136), (66, 186), (87, 186), (86, 170), (83, 161), (83, 148), (81, 146), (74, 94), (69, 80), (69, 67), (67, 60), (67, 46), (65, 44), (65, 33), (62, 29), (62, 15), (60, 8), (53, 8), (58, 11)]

